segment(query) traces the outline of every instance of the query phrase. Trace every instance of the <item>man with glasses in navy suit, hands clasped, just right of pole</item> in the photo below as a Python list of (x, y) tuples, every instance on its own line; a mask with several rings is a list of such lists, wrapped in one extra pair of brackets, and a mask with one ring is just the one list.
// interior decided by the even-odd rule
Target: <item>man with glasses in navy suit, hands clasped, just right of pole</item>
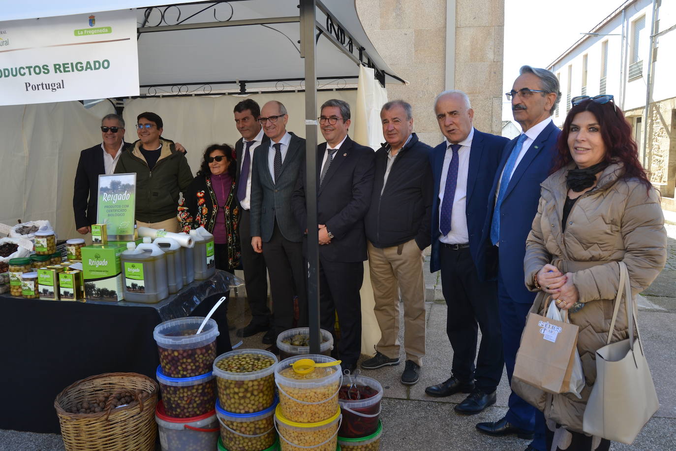
[(308, 224), (305, 165), (293, 193), (293, 210), (301, 231), (319, 228), (319, 292), (322, 329), (333, 333), (338, 314), (338, 355), (343, 369), (354, 373), (361, 352), (366, 237), (364, 214), (370, 204), (375, 153), (349, 139), (349, 105), (331, 99), (322, 105), (320, 128), (326, 143), (317, 146), (317, 220)]

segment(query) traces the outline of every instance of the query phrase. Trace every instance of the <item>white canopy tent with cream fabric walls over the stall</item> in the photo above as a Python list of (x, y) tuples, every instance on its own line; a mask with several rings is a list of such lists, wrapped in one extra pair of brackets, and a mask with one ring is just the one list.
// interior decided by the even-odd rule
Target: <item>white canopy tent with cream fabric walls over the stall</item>
[[(293, 119), (289, 129), (308, 140), (307, 164), (314, 168), (318, 104), (331, 97), (342, 98), (357, 103), (355, 117), (370, 118), (380, 105), (370, 105), (369, 100), (386, 99), (386, 95), (384, 90), (377, 95), (345, 90), (356, 88), (360, 66), (372, 68), (381, 85), (404, 82), (366, 37), (354, 1), (162, 3), (111, 0), (93, 7), (91, 1), (64, 0), (3, 6), (3, 20), (91, 14), (92, 8), (136, 8), (142, 98), (102, 101), (89, 110), (78, 102), (0, 107), (5, 147), (0, 152), (0, 180), (5, 186), (0, 222), (48, 219), (62, 237), (74, 235), (72, 180), (79, 150), (100, 141), (99, 120), (114, 112), (114, 105), (118, 109), (124, 105), (128, 124), (135, 123), (138, 112), (158, 112), (165, 122), (164, 134), (189, 149), (189, 162), (196, 170), (206, 145), (234, 143), (239, 138), (231, 116), (239, 95), (254, 94), (260, 103), (278, 99), (287, 108), (293, 105), (288, 108)], [(373, 89), (375, 83), (363, 80), (363, 72), (360, 85)], [(305, 89), (306, 79), (317, 80), (315, 89)], [(322, 89), (327, 92), (318, 94)], [(364, 144), (379, 142), (379, 130), (366, 126), (365, 132), (359, 130), (358, 141), (365, 137)], [(126, 139), (136, 139), (130, 126)], [(314, 187), (316, 173), (307, 173), (308, 187)], [(313, 191), (308, 189), (308, 222), (316, 222)], [(316, 231), (310, 231), (308, 242), (310, 317), (315, 318), (311, 328), (316, 330), (318, 250), (312, 245), (317, 242)], [(312, 335), (316, 339), (312, 344), (318, 348), (318, 334)]]

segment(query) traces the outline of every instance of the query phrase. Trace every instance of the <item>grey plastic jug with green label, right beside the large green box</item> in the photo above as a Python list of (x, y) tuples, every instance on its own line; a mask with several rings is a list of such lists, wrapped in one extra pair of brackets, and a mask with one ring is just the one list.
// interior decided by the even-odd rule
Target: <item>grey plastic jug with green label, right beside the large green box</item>
[(124, 275), (124, 300), (154, 304), (169, 295), (167, 285), (167, 258), (160, 246), (143, 239), (138, 246), (127, 243), (120, 254)]

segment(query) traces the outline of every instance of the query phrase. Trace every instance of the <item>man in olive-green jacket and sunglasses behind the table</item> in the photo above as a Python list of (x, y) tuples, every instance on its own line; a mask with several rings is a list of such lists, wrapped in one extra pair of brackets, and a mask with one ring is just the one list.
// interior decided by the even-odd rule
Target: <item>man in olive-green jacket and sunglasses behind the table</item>
[(138, 227), (178, 232), (179, 193), (193, 181), (185, 156), (162, 135), (162, 118), (145, 112), (137, 117), (139, 141), (122, 153), (115, 173), (136, 172)]

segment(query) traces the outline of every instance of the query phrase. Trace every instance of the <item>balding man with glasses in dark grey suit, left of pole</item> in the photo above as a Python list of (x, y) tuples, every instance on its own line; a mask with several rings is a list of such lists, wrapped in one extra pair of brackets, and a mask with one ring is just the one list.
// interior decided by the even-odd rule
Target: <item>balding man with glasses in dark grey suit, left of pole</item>
[[(251, 167), (251, 246), (270, 270), (274, 336), (293, 327), (293, 298), (298, 297), (298, 325), (307, 323), (303, 232), (291, 211), (291, 194), (304, 164), (305, 139), (287, 132), (289, 115), (282, 103), (269, 101), (258, 122), (266, 139)], [(272, 350), (276, 346), (272, 345)]]

